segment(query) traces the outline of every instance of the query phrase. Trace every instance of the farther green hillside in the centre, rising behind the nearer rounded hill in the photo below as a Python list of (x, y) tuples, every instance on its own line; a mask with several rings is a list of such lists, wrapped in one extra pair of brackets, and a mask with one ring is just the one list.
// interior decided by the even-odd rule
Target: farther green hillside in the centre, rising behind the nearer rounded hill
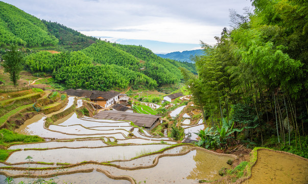
[(158, 85), (180, 82), (182, 75), (178, 67), (185, 67), (196, 73), (193, 64), (163, 59), (151, 50), (135, 45), (98, 41), (82, 52), (96, 63), (116, 64), (144, 73), (156, 80)]

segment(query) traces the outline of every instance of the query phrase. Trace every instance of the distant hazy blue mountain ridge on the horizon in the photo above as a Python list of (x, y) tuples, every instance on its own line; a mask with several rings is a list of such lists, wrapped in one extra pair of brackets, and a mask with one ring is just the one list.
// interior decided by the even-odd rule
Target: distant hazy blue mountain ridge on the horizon
[(203, 55), (203, 50), (193, 50), (193, 51), (183, 51), (183, 52), (172, 52), (168, 54), (156, 54), (157, 56), (161, 58), (166, 59), (173, 59), (181, 62), (189, 62), (194, 63), (194, 61), (191, 60), (192, 56), (200, 56)]

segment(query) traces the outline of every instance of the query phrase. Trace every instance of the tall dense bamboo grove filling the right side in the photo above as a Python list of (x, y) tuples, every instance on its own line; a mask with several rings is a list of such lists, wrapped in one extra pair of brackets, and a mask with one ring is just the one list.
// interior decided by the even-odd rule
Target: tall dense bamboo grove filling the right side
[(249, 144), (307, 149), (307, 5), (254, 0), (244, 15), (230, 10), (231, 29), (214, 46), (202, 42), (198, 77), (182, 74), (207, 126), (229, 125)]

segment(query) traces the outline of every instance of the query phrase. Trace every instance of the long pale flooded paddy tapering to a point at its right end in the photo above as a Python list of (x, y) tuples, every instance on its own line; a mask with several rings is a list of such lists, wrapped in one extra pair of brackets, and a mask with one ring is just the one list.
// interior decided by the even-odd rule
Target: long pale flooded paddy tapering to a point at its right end
[(76, 164), (83, 161), (107, 162), (117, 159), (131, 159), (135, 156), (161, 150), (169, 145), (132, 145), (113, 146), (104, 148), (59, 148), (50, 150), (22, 150), (16, 151), (9, 156), (6, 162), (24, 162), (28, 155), (33, 157), (34, 162), (47, 163), (70, 163)]

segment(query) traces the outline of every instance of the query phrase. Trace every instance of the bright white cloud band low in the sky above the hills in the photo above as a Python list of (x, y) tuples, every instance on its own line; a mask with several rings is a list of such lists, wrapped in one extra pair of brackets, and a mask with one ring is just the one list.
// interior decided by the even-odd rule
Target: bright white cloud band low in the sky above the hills
[(149, 24), (122, 27), (122, 31), (81, 31), (81, 33), (92, 36), (146, 39), (171, 43), (199, 44), (200, 40), (206, 40), (208, 43), (214, 44), (214, 36), (220, 35), (222, 29), (223, 27), (220, 26), (206, 26), (177, 19), (156, 18)]

